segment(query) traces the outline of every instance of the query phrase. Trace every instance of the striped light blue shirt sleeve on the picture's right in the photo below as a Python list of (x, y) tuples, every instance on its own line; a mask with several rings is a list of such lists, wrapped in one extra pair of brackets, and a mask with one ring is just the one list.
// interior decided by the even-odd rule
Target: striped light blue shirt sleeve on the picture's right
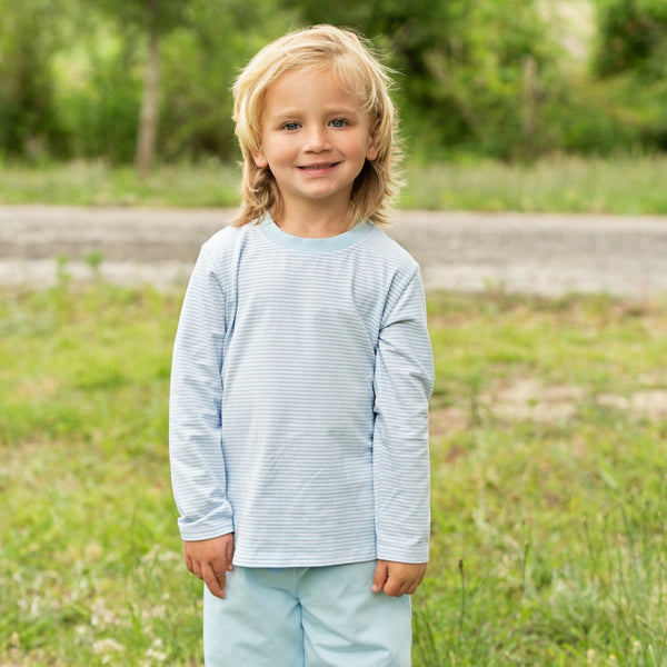
[(384, 560), (428, 560), (432, 388), (432, 350), (417, 270), (385, 316), (376, 352), (372, 461), (377, 551)]

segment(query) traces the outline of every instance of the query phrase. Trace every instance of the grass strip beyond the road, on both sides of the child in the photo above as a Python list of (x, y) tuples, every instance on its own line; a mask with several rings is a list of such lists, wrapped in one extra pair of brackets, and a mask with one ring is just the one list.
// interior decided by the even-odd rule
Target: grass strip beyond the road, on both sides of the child
[[(557, 156), (535, 163), (456, 160), (406, 168), (401, 208), (667, 215), (667, 156)], [(239, 169), (216, 160), (161, 166), (146, 178), (103, 162), (0, 162), (0, 203), (233, 207)]]

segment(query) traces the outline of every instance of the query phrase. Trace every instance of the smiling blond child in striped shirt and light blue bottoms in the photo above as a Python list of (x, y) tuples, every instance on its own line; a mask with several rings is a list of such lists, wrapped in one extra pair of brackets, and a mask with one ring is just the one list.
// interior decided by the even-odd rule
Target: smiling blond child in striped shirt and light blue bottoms
[(318, 26), (235, 86), (243, 202), (193, 269), (170, 405), (209, 667), (410, 664), (434, 378), (418, 266), (380, 229), (388, 83), (359, 37)]

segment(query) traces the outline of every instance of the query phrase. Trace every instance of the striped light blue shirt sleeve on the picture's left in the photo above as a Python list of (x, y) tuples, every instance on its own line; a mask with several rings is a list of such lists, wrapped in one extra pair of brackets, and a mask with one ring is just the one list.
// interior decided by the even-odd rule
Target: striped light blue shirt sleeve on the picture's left
[(179, 529), (185, 540), (233, 531), (221, 449), (225, 292), (202, 249), (173, 345), (169, 456)]

